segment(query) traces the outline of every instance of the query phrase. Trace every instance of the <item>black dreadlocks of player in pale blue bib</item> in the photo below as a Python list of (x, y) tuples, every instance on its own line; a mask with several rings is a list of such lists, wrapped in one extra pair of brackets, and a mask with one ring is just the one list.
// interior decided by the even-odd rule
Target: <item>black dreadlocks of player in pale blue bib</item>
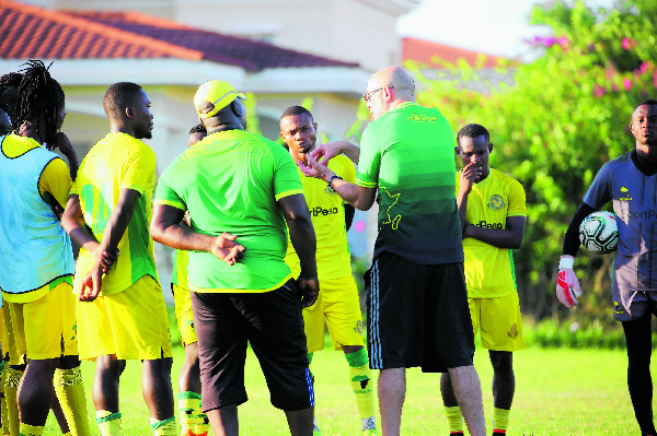
[[(47, 141), (46, 137), (55, 134), (57, 128), (57, 109), (64, 104), (64, 91), (50, 76), (49, 66), (46, 68), (38, 59), (30, 59), (26, 64), (27, 67), (21, 70), (23, 76), (19, 85), (14, 126), (20, 127), (26, 121), (34, 122), (41, 139)], [(45, 132), (39, 131), (41, 116), (46, 120)]]

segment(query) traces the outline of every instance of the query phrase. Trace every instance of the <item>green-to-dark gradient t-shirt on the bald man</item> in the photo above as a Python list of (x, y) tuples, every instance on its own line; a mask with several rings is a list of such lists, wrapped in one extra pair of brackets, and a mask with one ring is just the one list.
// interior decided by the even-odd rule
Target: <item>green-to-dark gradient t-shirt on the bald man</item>
[(362, 133), (356, 185), (378, 188), (374, 256), (410, 262), (463, 261), (454, 197), (454, 135), (436, 108), (404, 103)]

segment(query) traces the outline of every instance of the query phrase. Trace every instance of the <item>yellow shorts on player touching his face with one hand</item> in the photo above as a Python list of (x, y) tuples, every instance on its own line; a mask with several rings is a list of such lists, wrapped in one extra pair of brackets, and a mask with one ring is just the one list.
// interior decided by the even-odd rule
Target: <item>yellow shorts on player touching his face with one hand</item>
[(481, 329), (482, 346), (493, 351), (525, 347), (518, 293), (497, 298), (468, 298), (474, 334)]

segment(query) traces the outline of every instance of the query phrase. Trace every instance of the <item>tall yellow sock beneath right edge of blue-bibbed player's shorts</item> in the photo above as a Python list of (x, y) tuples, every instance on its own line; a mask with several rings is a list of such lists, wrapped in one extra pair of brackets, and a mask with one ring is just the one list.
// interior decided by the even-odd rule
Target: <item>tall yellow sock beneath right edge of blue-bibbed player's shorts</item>
[(72, 436), (91, 435), (82, 372), (79, 366), (71, 369), (55, 369), (55, 393), (61, 404), (70, 434)]

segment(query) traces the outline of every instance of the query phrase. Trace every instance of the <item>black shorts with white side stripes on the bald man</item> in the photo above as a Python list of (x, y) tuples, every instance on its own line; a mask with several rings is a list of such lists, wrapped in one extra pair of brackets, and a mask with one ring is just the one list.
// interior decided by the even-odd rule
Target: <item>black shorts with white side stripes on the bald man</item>
[(445, 373), (472, 365), (463, 263), (417, 264), (384, 251), (365, 274), (365, 286), (372, 369)]

